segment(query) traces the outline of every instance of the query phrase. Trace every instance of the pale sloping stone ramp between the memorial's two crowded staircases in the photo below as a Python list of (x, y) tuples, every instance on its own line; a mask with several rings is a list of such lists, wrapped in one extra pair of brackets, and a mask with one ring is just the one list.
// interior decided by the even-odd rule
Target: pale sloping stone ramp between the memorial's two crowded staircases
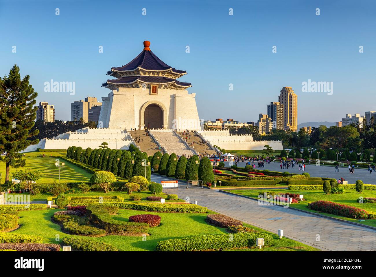
[(149, 130), (161, 147), (164, 147), (168, 154), (175, 153), (178, 156), (186, 157), (195, 155), (183, 139), (173, 130)]

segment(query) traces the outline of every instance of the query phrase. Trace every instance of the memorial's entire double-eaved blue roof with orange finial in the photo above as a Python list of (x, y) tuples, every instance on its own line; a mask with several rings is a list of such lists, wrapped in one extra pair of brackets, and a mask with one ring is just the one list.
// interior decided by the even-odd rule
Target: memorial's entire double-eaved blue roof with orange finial
[(158, 84), (161, 89), (186, 89), (190, 83), (175, 80), (186, 74), (160, 60), (149, 48), (150, 41), (144, 41), (143, 51), (124, 66), (112, 67), (107, 75), (117, 79), (107, 80), (102, 86), (114, 90), (117, 87), (144, 87), (144, 84)]

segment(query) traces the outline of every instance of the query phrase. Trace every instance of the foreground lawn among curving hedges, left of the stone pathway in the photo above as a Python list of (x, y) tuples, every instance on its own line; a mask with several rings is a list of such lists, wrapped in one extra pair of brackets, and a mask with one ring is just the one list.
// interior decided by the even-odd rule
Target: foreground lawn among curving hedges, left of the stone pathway
[[(64, 236), (71, 236), (62, 233), (58, 224), (51, 222), (53, 213), (61, 209), (35, 210), (35, 211), (21, 211), (18, 216), (19, 224), (21, 225), (12, 233), (30, 234), (44, 237), (44, 243), (59, 243), (56, 242), (57, 235), (60, 240)], [(105, 236), (105, 237), (85, 237), (87, 239), (96, 240), (100, 242), (114, 245), (121, 251), (153, 251), (156, 244), (160, 240), (180, 238), (186, 236), (204, 235), (204, 234), (226, 234), (226, 228), (220, 228), (209, 225), (205, 222), (206, 214), (184, 214), (184, 213), (151, 213), (135, 210), (119, 210), (114, 217), (117, 220), (128, 221), (129, 216), (135, 214), (157, 214), (161, 217), (161, 225), (158, 227), (149, 228), (150, 236), (146, 237), (146, 241), (142, 237), (127, 237), (127, 236)], [(253, 229), (261, 230), (257, 227), (247, 225)], [(79, 236), (75, 236), (79, 237)], [(311, 246), (296, 242), (287, 238), (279, 239), (273, 234), (274, 246), (263, 248), (262, 251), (314, 251), (317, 250)], [(259, 251), (258, 249), (242, 249)]]

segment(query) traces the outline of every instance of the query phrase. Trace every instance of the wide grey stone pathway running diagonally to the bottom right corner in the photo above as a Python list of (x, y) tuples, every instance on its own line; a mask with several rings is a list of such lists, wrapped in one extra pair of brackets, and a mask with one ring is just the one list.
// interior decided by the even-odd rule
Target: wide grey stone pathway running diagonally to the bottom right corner
[[(152, 175), (152, 181), (169, 180)], [(244, 197), (206, 188), (185, 188), (179, 181), (179, 189), (168, 188), (164, 192), (177, 194), (180, 199), (189, 197), (199, 205), (227, 216), (257, 226), (272, 233), (284, 230), (284, 236), (327, 251), (374, 251), (376, 230), (343, 223), (332, 219), (283, 208), (274, 205), (258, 205)], [(320, 240), (317, 240), (319, 237)]]

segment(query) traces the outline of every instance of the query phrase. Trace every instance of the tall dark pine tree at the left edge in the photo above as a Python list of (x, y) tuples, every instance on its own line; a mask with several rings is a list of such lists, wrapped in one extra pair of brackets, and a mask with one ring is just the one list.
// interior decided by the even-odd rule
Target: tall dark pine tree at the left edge
[(20, 68), (15, 64), (9, 76), (0, 78), (0, 150), (6, 152), (0, 156), (5, 162), (5, 182), (9, 182), (9, 168), (23, 167), (26, 161), (20, 151), (29, 145), (38, 144), (38, 139), (27, 140), (38, 135), (39, 131), (30, 132), (35, 124), (38, 95), (29, 84), (30, 76), (21, 80)]

